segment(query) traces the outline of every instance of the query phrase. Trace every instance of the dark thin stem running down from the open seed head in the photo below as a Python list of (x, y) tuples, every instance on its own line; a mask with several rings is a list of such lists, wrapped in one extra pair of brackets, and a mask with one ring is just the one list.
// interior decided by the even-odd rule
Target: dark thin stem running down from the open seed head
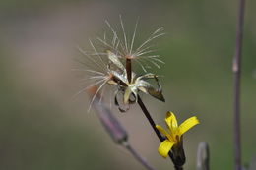
[[(160, 132), (159, 130), (156, 128), (156, 124), (154, 122), (154, 120), (152, 119), (151, 117), (151, 114), (150, 112), (148, 111), (148, 109), (146, 108), (146, 106), (144, 105), (141, 97), (138, 95), (138, 104), (139, 106), (141, 107), (142, 109), (142, 112), (144, 113), (144, 115), (147, 117), (148, 121), (150, 122), (153, 130), (155, 131), (155, 133), (157, 134), (157, 136), (159, 137), (160, 139), (160, 142), (163, 142), (165, 139), (160, 135)], [(170, 159), (172, 160), (173, 164), (175, 165), (175, 162), (174, 162), (174, 159), (173, 159), (173, 155), (171, 152), (168, 153), (169, 154), (169, 157)], [(182, 166), (177, 166), (175, 165), (174, 166), (175, 170), (183, 170), (183, 167)]]

